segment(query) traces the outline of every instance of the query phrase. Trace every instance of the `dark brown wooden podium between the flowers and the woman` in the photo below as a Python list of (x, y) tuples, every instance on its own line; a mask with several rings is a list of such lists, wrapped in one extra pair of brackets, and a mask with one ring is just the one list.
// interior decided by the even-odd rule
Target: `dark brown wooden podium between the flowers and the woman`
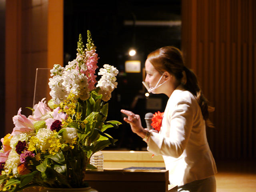
[(86, 170), (85, 180), (99, 192), (177, 192), (168, 170)]

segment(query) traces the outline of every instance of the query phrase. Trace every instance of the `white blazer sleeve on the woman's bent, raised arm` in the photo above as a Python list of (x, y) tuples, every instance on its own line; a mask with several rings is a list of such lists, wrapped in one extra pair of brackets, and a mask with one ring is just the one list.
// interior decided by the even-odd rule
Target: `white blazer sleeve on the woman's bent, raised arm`
[(164, 114), (166, 115), (164, 118), (166, 122), (163, 125), (167, 126), (166, 130), (168, 130), (169, 135), (151, 132), (147, 150), (156, 155), (178, 158), (188, 143), (195, 110), (191, 102), (182, 99), (167, 111), (169, 113)]

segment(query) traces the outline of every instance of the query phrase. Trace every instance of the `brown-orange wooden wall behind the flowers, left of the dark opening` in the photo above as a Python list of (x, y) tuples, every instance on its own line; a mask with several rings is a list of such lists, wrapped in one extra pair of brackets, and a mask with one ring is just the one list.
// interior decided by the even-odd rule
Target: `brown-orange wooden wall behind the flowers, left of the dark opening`
[(36, 68), (63, 64), (63, 16), (63, 0), (6, 1), (5, 134), (32, 113)]

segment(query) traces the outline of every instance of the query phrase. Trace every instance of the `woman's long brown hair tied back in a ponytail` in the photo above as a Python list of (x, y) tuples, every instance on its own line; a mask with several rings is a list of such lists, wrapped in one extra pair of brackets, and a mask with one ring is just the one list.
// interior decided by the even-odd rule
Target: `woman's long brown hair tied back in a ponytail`
[(204, 97), (203, 92), (198, 85), (198, 80), (194, 72), (184, 65), (182, 52), (178, 48), (166, 46), (150, 53), (148, 55), (148, 60), (159, 72), (167, 71), (175, 76), (178, 84), (181, 84), (181, 80), (183, 78), (182, 72), (185, 71), (187, 80), (184, 84), (184, 88), (196, 96), (206, 125), (214, 127), (212, 122), (209, 120), (209, 112), (214, 111), (214, 108), (208, 106), (208, 101)]

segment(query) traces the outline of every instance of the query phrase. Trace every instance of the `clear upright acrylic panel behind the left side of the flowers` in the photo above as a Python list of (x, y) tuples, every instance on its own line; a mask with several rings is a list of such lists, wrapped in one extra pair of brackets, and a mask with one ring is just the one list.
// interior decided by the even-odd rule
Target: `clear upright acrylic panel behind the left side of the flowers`
[(37, 68), (36, 69), (36, 81), (34, 88), (34, 100), (33, 106), (40, 102), (43, 98), (46, 98), (46, 103), (51, 99), (50, 88), (49, 88), (49, 78), (51, 69)]

